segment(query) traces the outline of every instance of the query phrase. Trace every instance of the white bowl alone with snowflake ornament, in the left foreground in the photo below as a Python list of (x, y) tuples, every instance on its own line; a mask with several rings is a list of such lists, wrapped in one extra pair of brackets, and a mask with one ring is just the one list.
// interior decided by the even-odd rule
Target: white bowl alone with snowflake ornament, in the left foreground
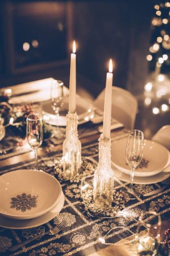
[(60, 183), (36, 170), (17, 170), (0, 176), (0, 214), (27, 220), (50, 211), (60, 199)]

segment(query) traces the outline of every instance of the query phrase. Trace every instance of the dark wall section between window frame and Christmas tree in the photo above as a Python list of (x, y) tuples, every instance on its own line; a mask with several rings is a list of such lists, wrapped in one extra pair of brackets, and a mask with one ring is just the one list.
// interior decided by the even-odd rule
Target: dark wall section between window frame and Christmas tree
[(153, 1), (147, 0), (74, 3), (74, 36), (80, 44), (78, 68), (96, 81), (96, 94), (105, 86), (110, 58), (115, 61), (115, 85), (134, 93), (143, 90), (153, 6)]

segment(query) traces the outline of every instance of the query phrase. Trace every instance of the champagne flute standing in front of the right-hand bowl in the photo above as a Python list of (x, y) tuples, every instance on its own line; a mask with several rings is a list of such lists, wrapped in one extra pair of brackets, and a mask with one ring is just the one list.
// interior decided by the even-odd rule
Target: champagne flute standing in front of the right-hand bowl
[(143, 145), (144, 145), (144, 134), (139, 130), (131, 130), (128, 132), (127, 144), (125, 150), (125, 158), (127, 164), (131, 168), (131, 184), (129, 192), (129, 198), (135, 199), (133, 196), (133, 180), (134, 180), (134, 172), (135, 169), (139, 166), (141, 159), (143, 157)]

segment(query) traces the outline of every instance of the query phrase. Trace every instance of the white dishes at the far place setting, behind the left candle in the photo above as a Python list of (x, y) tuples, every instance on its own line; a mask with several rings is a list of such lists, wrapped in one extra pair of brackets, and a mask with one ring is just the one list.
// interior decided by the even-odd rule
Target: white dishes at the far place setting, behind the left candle
[[(43, 120), (47, 124), (66, 126), (66, 115), (69, 109), (69, 97), (64, 97), (64, 105), (60, 109), (60, 115), (55, 116), (51, 102), (44, 102), (42, 105)], [(93, 106), (87, 100), (76, 95), (76, 113), (78, 115), (78, 124), (88, 122), (94, 118)]]

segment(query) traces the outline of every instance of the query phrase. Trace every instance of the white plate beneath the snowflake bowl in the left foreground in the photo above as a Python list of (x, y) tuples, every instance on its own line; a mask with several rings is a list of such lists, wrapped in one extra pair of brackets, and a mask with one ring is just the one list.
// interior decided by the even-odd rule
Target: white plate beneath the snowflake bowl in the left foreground
[(46, 222), (52, 220), (59, 214), (64, 206), (64, 194), (63, 192), (60, 195), (59, 202), (48, 212), (39, 216), (38, 218), (30, 220), (14, 220), (6, 218), (0, 215), (0, 227), (11, 228), (11, 229), (23, 229), (23, 228), (34, 228), (40, 225), (45, 224)]

